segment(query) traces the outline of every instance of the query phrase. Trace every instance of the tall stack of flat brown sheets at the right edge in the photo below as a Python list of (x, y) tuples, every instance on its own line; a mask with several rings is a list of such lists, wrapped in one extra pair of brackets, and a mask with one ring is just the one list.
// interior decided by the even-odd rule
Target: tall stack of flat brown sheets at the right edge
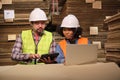
[(120, 64), (120, 13), (105, 20), (108, 25), (106, 60)]

